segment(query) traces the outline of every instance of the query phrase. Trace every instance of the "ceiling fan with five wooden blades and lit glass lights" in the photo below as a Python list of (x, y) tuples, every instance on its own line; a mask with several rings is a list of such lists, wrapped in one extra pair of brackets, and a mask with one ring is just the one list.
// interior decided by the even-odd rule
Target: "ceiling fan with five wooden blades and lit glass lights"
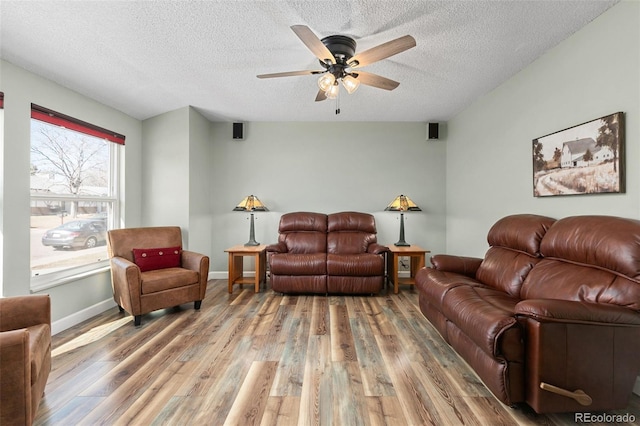
[[(288, 71), (273, 74), (260, 74), (258, 78), (291, 77), (298, 75), (321, 74), (318, 79), (316, 101), (336, 99), (340, 91), (341, 81), (345, 90), (351, 94), (360, 84), (393, 90), (400, 83), (370, 72), (360, 71), (360, 67), (386, 59), (415, 47), (416, 41), (410, 35), (388, 41), (356, 54), (356, 41), (344, 35), (331, 35), (319, 39), (306, 25), (293, 25), (294, 33), (307, 48), (318, 58), (321, 70)], [(339, 114), (340, 110), (336, 110)]]

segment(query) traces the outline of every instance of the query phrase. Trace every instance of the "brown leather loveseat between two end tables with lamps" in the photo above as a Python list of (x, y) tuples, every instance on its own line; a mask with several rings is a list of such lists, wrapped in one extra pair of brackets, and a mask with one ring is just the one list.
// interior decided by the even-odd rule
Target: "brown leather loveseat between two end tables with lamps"
[(378, 293), (384, 253), (373, 215), (295, 212), (280, 218), (278, 243), (267, 246), (271, 287), (282, 293)]

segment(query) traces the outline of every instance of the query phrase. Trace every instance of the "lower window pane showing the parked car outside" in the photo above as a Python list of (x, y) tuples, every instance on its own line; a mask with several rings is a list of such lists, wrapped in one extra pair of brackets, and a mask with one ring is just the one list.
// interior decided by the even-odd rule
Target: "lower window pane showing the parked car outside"
[[(76, 207), (72, 207), (73, 205)], [(111, 202), (31, 201), (31, 272), (42, 275), (108, 259)], [(75, 210), (75, 217), (69, 214)]]

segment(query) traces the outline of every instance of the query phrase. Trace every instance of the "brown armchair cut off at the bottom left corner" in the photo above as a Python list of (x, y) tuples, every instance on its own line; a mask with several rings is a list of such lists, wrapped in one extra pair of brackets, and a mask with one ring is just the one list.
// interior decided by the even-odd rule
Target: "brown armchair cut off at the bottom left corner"
[(51, 371), (48, 295), (0, 299), (0, 424), (30, 425)]

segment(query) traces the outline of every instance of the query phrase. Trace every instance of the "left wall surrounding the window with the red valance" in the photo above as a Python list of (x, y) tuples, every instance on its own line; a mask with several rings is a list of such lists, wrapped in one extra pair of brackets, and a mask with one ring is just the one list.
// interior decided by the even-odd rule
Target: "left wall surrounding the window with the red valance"
[[(5, 94), (0, 233), (4, 296), (30, 292), (29, 161), (31, 103), (76, 117), (126, 136), (126, 168), (121, 171), (126, 201), (121, 206), (129, 226), (140, 223), (141, 124), (127, 115), (51, 81), (0, 61), (0, 91)], [(100, 273), (50, 288), (55, 322), (111, 298), (109, 273)]]

